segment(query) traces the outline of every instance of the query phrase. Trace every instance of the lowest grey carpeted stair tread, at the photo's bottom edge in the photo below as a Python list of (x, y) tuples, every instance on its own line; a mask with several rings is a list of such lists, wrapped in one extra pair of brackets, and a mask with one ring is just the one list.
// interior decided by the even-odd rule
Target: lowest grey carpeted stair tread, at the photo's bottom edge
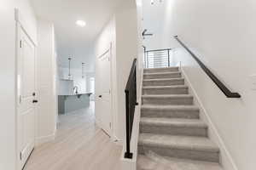
[(137, 170), (223, 170), (215, 162), (184, 160), (161, 156), (137, 156)]

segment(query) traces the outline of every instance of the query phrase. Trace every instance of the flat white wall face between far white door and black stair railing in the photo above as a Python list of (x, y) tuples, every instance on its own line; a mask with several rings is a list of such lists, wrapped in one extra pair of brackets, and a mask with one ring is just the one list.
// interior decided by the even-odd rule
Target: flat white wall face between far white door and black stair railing
[[(131, 1), (132, 2), (132, 1)], [(131, 71), (133, 59), (138, 57), (137, 7), (134, 2), (123, 3), (116, 13), (116, 75), (118, 98), (119, 139), (125, 137), (125, 86)]]

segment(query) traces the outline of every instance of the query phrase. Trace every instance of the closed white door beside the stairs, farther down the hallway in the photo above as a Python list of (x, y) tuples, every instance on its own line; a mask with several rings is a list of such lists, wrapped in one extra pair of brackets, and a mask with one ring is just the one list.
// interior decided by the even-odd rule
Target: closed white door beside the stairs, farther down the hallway
[(110, 82), (110, 50), (98, 58), (97, 67), (97, 111), (102, 129), (111, 136), (112, 114), (111, 114), (111, 82)]

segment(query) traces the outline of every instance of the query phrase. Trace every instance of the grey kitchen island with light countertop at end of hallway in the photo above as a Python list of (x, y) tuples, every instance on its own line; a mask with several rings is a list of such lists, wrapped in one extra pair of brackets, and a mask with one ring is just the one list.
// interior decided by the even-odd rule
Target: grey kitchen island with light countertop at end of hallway
[(59, 114), (65, 114), (68, 112), (77, 111), (89, 107), (91, 94), (92, 93), (59, 95)]

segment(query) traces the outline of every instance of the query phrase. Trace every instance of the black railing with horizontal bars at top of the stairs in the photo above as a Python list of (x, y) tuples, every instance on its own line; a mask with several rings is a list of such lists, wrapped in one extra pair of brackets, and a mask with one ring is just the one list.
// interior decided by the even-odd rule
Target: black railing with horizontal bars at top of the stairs
[(144, 51), (144, 67), (145, 68), (160, 68), (170, 67), (171, 59), (170, 52), (172, 48), (154, 49)]

